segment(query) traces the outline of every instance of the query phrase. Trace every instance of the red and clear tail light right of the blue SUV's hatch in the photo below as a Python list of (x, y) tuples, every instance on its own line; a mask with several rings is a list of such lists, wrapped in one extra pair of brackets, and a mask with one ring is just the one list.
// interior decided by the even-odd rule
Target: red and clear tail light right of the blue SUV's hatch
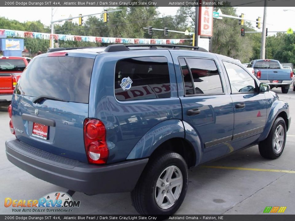
[(89, 163), (105, 164), (108, 160), (108, 145), (103, 122), (87, 118), (84, 121), (84, 145)]

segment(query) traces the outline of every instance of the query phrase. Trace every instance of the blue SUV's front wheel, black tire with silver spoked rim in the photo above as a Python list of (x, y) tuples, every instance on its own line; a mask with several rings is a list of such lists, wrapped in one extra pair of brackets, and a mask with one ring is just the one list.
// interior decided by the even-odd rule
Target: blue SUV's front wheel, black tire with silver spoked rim
[(278, 117), (267, 138), (258, 145), (260, 155), (267, 159), (276, 159), (281, 156), (285, 148), (286, 133), (285, 120)]

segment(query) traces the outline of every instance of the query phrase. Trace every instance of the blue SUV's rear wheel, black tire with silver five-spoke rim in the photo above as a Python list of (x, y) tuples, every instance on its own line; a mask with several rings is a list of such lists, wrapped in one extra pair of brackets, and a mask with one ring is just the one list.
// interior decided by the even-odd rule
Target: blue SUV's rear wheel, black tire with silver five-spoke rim
[(174, 214), (187, 192), (188, 172), (183, 157), (175, 152), (163, 153), (148, 162), (136, 187), (132, 203), (140, 214)]

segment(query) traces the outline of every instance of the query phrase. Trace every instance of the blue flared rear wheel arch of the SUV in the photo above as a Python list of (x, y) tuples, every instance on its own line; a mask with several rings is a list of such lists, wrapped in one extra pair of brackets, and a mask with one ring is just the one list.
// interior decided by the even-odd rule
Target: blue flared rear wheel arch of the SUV
[(127, 159), (153, 157), (172, 150), (186, 160), (188, 167), (201, 161), (201, 146), (198, 134), (181, 120), (163, 121), (149, 130), (129, 153)]

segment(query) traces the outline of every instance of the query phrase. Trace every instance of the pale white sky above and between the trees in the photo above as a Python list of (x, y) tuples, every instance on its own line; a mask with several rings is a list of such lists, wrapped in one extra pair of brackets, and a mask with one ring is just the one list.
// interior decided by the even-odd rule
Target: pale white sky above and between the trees
[[(263, 18), (263, 7), (236, 7), (237, 14), (244, 13), (245, 19), (256, 21), (256, 18)], [(160, 14), (164, 17), (165, 15), (175, 15), (178, 7), (158, 7)], [(37, 21), (45, 25), (50, 25), (51, 21), (51, 7), (2, 7), (1, 17), (8, 19), (15, 19), (21, 22), (24, 21)], [(288, 10), (288, 11), (283, 11)], [(94, 14), (103, 11), (103, 7), (57, 7), (54, 12), (53, 20), (59, 20), (67, 18), (71, 14), (73, 17), (79, 14)], [(100, 15), (97, 15), (100, 16)], [(268, 31), (287, 31), (292, 28), (295, 31), (295, 7), (268, 7), (267, 8), (267, 28)], [(86, 20), (86, 18), (84, 18)], [(74, 22), (78, 22), (78, 19), (74, 19)], [(60, 23), (61, 24), (61, 23)], [(256, 29), (256, 23), (252, 22)], [(0, 27), (1, 28), (1, 27)], [(155, 27), (163, 28), (163, 27)], [(262, 29), (257, 29), (262, 31)], [(185, 30), (183, 30), (185, 31)], [(247, 30), (245, 30), (247, 31)], [(213, 30), (214, 32), (214, 30)], [(247, 34), (247, 33), (246, 33)], [(275, 34), (275, 33), (273, 33)], [(269, 33), (271, 35), (271, 33)], [(116, 36), (114, 36), (116, 37)]]

